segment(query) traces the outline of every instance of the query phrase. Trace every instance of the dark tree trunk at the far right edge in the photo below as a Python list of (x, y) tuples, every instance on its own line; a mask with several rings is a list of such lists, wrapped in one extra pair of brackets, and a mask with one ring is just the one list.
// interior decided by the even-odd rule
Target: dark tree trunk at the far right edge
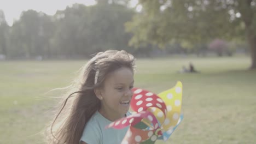
[(248, 35), (249, 46), (251, 49), (252, 64), (250, 69), (256, 69), (256, 35)]

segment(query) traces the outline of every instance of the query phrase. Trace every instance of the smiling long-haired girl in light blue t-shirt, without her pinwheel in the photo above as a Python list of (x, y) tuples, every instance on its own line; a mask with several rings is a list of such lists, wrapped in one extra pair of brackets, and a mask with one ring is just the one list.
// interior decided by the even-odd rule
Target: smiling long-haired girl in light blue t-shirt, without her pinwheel
[[(77, 89), (65, 99), (51, 124), (49, 143), (121, 143), (128, 128), (105, 127), (130, 115), (134, 67), (133, 56), (125, 51), (108, 50), (90, 59), (82, 70)], [(69, 111), (55, 124), (71, 97)]]

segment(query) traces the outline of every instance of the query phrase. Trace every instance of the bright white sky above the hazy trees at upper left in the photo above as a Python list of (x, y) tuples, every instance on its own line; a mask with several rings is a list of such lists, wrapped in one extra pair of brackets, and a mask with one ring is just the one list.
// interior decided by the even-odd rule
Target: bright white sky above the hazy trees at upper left
[[(132, 0), (136, 5), (138, 0)], [(64, 10), (68, 5), (81, 3), (85, 5), (96, 4), (95, 0), (0, 0), (0, 9), (4, 11), (5, 20), (11, 26), (18, 20), (22, 11), (33, 9), (48, 15), (54, 15), (57, 10)]]

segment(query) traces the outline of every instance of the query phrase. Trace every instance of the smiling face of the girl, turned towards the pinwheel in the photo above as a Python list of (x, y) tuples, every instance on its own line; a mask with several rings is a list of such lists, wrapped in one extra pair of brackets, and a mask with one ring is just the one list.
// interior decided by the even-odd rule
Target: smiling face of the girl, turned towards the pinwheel
[(99, 111), (104, 117), (115, 121), (125, 116), (133, 95), (133, 83), (133, 72), (129, 68), (122, 67), (107, 75), (103, 88), (97, 93), (102, 97)]

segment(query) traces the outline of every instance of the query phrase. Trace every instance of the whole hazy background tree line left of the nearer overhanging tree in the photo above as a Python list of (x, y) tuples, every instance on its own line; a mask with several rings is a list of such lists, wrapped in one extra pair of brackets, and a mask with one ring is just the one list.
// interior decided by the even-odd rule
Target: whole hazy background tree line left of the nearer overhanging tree
[(126, 1), (118, 3), (121, 1), (99, 2), (90, 7), (73, 4), (54, 16), (23, 11), (20, 20), (10, 27), (8, 39), (2, 38), (1, 29), (5, 28), (0, 26), (0, 45), (8, 43), (7, 52), (0, 52), (8, 53), (8, 58), (84, 58), (107, 49), (131, 52), (131, 34), (125, 33), (124, 23), (134, 12), (124, 5)]

